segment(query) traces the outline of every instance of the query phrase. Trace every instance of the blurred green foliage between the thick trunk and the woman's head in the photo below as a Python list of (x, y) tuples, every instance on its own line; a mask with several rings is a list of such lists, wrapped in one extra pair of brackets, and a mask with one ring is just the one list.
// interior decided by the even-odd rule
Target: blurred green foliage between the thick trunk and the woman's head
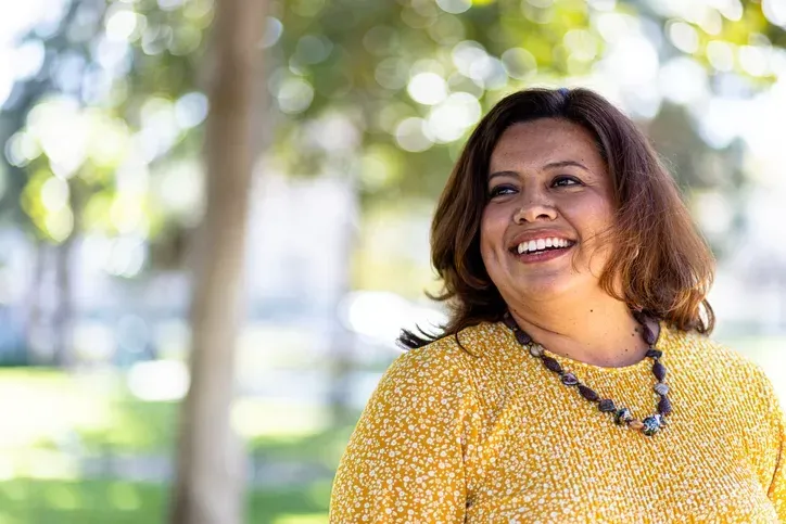
[[(431, 0), (304, 0), (279, 2), (271, 15), (283, 27), (271, 48), (268, 80), (281, 113), (277, 161), (288, 171), (319, 172), (331, 157), (363, 151), (360, 164), (348, 169), (357, 174), (362, 194), (372, 199), (438, 194), (482, 108), (528, 81), (568, 74), (563, 36), (576, 29), (590, 34), (586, 4), (578, 1), (553, 9), (477, 2), (452, 14)], [(408, 92), (418, 73), (438, 75), (452, 93), (465, 93), (470, 104), (477, 100), (480, 111), (469, 125), (459, 118), (462, 129), (455, 133), (429, 138), (413, 129), (409, 142), (416, 143), (407, 146), (406, 139), (396, 140), (396, 133), (407, 135), (405, 119), (439, 119), (440, 102), (418, 102)], [(345, 143), (329, 140), (335, 119), (350, 131)]]

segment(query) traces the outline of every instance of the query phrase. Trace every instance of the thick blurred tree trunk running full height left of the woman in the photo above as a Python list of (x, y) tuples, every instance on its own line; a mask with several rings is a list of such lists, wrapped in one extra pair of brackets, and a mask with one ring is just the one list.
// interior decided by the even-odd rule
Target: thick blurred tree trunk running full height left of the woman
[(191, 302), (191, 386), (182, 404), (172, 522), (242, 522), (243, 455), (230, 426), (241, 319), (253, 117), (265, 0), (218, 0), (206, 123), (206, 209)]

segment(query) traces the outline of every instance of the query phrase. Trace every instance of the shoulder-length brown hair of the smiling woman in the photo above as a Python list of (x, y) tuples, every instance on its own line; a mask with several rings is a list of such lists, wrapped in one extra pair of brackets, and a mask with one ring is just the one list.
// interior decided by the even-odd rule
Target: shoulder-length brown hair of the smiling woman
[[(430, 296), (451, 305), (447, 323), (438, 334), (404, 330), (400, 344), (416, 348), (483, 321), (502, 320), (507, 306), (480, 254), (489, 163), (508, 127), (537, 118), (582, 126), (595, 138), (606, 163), (617, 209), (607, 239), (613, 242), (616, 256), (605, 268), (600, 286), (631, 309), (684, 331), (711, 333), (714, 315), (706, 296), (714, 259), (648, 140), (630, 118), (591, 90), (529, 89), (499, 101), (478, 124), (436, 207), (431, 261), (444, 291)], [(621, 292), (614, 289), (616, 281), (622, 283)]]

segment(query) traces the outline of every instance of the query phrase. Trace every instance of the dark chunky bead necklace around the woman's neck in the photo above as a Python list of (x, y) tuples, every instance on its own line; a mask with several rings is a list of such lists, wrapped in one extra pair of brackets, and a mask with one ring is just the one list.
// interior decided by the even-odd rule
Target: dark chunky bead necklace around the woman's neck
[(552, 372), (559, 375), (562, 384), (569, 387), (575, 386), (579, 389), (579, 394), (591, 402), (598, 405), (598, 410), (604, 413), (611, 413), (614, 418), (614, 423), (618, 425), (626, 425), (631, 430), (641, 431), (644, 435), (652, 436), (661, 427), (667, 425), (667, 417), (671, 414), (671, 401), (667, 394), (669, 393), (669, 386), (663, 382), (665, 379), (665, 366), (660, 361), (660, 357), (663, 356), (663, 352), (655, 348), (656, 336), (652, 330), (647, 325), (648, 317), (641, 312), (634, 311), (633, 317), (642, 327), (642, 336), (644, 342), (649, 346), (646, 357), (652, 359), (652, 374), (657, 379), (657, 383), (652, 389), (658, 394), (658, 412), (646, 417), (644, 420), (638, 420), (633, 417), (630, 409), (625, 407), (618, 407), (614, 401), (610, 398), (601, 398), (600, 395), (595, 393), (593, 389), (582, 384), (579, 379), (571, 372), (565, 371), (560, 363), (545, 355), (546, 348), (541, 344), (534, 342), (532, 337), (525, 333), (519, 324), (516, 323), (510, 311), (507, 311), (503, 317), (503, 322), (507, 325), (516, 335), (516, 340), (522, 347), (529, 350), (530, 355), (535, 358), (540, 358), (543, 365)]

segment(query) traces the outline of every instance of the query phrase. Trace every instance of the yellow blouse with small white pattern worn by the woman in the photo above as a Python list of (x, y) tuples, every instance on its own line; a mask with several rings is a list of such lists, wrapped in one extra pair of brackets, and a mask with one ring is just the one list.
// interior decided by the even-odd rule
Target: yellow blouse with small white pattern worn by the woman
[[(398, 357), (333, 483), (331, 523), (786, 523), (783, 411), (761, 368), (661, 324), (673, 413), (619, 426), (502, 323)], [(470, 355), (471, 352), (473, 355)], [(639, 420), (651, 360), (600, 368), (554, 355)]]

